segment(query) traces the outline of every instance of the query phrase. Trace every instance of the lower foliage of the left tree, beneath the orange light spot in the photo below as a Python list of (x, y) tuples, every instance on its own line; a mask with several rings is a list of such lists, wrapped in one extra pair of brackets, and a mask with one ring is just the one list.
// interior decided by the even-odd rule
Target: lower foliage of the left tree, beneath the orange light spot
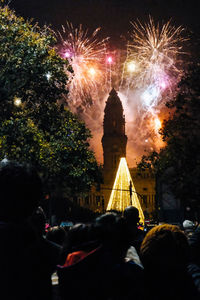
[(69, 194), (87, 191), (98, 175), (94, 153), (89, 150), (90, 131), (68, 110), (51, 106), (54, 122), (49, 130), (40, 129), (24, 111), (2, 123), (0, 158), (32, 163), (47, 189), (67, 188)]

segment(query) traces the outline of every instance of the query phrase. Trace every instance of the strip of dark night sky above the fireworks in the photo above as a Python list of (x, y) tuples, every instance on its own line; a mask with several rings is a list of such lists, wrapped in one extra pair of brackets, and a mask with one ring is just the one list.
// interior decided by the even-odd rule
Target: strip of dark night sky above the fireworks
[(91, 31), (101, 27), (103, 36), (116, 44), (131, 29), (130, 21), (147, 20), (148, 15), (157, 21), (172, 18), (175, 25), (200, 31), (200, 0), (12, 0), (10, 7), (54, 29), (66, 20)]

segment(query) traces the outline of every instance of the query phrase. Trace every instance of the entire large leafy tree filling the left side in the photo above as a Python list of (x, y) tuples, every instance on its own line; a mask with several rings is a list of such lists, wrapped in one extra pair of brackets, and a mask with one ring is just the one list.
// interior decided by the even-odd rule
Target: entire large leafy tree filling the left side
[(48, 192), (72, 195), (87, 191), (99, 171), (89, 130), (58, 103), (70, 66), (55, 42), (47, 27), (0, 7), (0, 159), (30, 162)]

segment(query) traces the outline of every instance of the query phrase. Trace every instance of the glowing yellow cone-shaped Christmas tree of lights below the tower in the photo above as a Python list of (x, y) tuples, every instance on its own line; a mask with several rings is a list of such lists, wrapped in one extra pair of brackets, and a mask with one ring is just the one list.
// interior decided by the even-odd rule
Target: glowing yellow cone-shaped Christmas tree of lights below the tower
[[(132, 201), (130, 201), (129, 192), (130, 182), (132, 183)], [(115, 209), (118, 211), (124, 211), (127, 206), (130, 206), (130, 202), (132, 202), (132, 205), (137, 207), (137, 209), (139, 210), (140, 222), (144, 224), (144, 214), (135, 187), (133, 185), (126, 158), (122, 157), (120, 159), (107, 210)]]

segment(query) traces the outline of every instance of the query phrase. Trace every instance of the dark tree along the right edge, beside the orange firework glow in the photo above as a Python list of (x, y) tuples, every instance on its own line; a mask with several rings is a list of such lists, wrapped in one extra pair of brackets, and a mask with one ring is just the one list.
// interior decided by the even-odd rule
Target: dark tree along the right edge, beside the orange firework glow
[[(173, 110), (160, 131), (166, 146), (160, 153), (143, 157), (141, 165), (163, 175), (183, 207), (199, 209), (200, 203), (200, 64), (192, 64), (179, 93), (167, 103)], [(166, 170), (168, 170), (166, 172)], [(170, 172), (169, 172), (170, 170)]]

